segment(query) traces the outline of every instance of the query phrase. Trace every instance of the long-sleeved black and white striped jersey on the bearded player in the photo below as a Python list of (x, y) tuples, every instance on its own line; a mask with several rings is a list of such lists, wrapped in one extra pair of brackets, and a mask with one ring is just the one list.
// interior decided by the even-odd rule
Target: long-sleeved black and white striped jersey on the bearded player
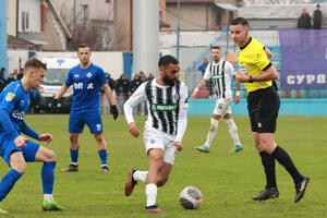
[[(177, 135), (180, 112), (187, 110), (187, 87), (183, 82), (177, 81), (174, 86), (162, 86), (156, 80), (150, 80), (143, 83), (125, 105), (134, 107), (141, 101), (147, 100), (149, 112), (145, 122), (146, 126), (157, 129), (169, 135)], [(129, 107), (124, 106), (124, 111), (128, 122), (133, 122)]]

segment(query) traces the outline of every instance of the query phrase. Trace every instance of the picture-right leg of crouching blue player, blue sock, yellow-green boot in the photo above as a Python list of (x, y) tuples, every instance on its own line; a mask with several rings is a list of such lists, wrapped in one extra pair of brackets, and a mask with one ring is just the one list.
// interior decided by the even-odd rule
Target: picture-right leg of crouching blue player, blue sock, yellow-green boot
[[(56, 154), (44, 147), (39, 146), (36, 143), (27, 142), (28, 149), (23, 149), (24, 157), (26, 161), (40, 161), (44, 162), (41, 169), (41, 180), (43, 180), (43, 190), (44, 190), (44, 210), (63, 210), (63, 207), (60, 206), (52, 196), (53, 184), (55, 184), (55, 168), (57, 164)], [(33, 149), (34, 147), (34, 149)], [(37, 149), (36, 154), (35, 150)], [(34, 155), (33, 155), (34, 154)], [(33, 157), (35, 157), (33, 159)]]

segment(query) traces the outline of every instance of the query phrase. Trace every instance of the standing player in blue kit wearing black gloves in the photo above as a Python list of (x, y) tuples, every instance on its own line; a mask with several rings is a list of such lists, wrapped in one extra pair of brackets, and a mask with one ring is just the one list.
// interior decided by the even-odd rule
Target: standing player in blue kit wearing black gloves
[(111, 105), (110, 111), (113, 114), (114, 120), (118, 118), (118, 110), (105, 71), (90, 62), (90, 55), (87, 45), (80, 45), (77, 52), (80, 64), (69, 71), (64, 84), (61, 86), (52, 101), (52, 107), (56, 108), (59, 98), (61, 98), (68, 88), (73, 85), (73, 102), (69, 120), (71, 165), (61, 170), (65, 172), (78, 171), (78, 135), (83, 132), (85, 124), (87, 124), (97, 142), (102, 172), (110, 172), (107, 165), (107, 146), (102, 135), (102, 121), (99, 108), (100, 87), (104, 88)]

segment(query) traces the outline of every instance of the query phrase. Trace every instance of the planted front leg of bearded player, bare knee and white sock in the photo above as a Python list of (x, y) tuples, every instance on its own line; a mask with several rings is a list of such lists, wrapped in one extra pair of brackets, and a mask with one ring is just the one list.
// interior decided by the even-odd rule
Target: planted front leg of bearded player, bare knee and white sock
[(146, 175), (146, 208), (147, 213), (162, 213), (158, 208), (157, 201), (157, 182), (160, 168), (164, 166), (164, 149), (152, 148), (148, 150), (149, 170)]

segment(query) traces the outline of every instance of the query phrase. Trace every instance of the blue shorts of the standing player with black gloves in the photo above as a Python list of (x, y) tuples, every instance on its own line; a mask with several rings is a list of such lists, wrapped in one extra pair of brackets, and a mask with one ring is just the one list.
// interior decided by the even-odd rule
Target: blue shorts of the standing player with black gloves
[(82, 133), (85, 124), (93, 134), (104, 132), (101, 114), (99, 111), (71, 112), (69, 120), (69, 133)]

